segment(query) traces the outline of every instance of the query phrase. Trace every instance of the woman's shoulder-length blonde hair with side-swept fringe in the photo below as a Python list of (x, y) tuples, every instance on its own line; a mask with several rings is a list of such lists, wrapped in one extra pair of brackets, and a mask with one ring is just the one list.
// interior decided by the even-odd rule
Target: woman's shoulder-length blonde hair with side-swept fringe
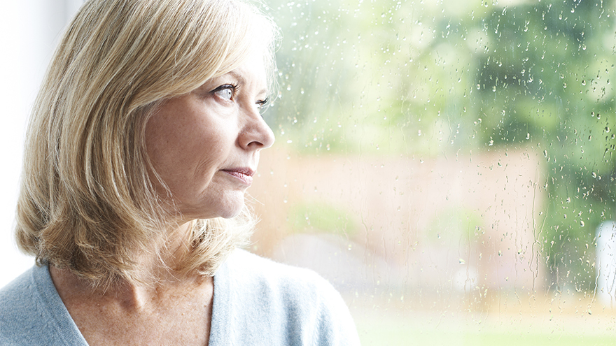
[[(147, 281), (134, 259), (161, 251), (154, 242), (168, 236), (169, 211), (148, 174), (158, 177), (146, 122), (165, 99), (236, 69), (263, 45), (271, 78), (276, 35), (271, 20), (237, 0), (87, 1), (31, 114), (20, 248), (97, 285)], [(176, 269), (213, 275), (252, 226), (246, 208), (234, 219), (196, 220), (190, 254)]]

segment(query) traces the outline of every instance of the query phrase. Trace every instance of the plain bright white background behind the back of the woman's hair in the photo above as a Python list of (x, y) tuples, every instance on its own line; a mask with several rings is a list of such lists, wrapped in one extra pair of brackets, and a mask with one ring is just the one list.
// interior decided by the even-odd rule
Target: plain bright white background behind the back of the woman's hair
[(0, 287), (34, 264), (13, 240), (26, 126), (59, 35), (82, 3), (22, 0), (0, 5)]

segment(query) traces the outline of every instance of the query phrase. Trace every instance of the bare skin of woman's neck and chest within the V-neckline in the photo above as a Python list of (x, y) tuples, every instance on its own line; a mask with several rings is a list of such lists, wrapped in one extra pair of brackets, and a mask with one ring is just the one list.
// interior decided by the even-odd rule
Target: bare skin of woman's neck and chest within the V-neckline
[[(176, 234), (188, 231), (188, 224)], [(173, 266), (187, 251), (176, 238), (165, 255)], [(141, 259), (157, 282), (120, 282), (102, 291), (67, 269), (50, 266), (50, 274), (66, 310), (89, 345), (208, 345), (214, 300), (213, 277), (177, 278), (158, 261)]]

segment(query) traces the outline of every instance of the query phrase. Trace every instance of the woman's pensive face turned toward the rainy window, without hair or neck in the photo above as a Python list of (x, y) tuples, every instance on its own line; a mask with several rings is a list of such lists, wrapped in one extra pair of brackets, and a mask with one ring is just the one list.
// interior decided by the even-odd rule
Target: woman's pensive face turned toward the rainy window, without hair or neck
[(238, 69), (169, 99), (148, 120), (148, 155), (184, 221), (234, 217), (244, 206), (259, 151), (274, 143), (259, 113), (266, 96), (265, 66), (255, 54)]

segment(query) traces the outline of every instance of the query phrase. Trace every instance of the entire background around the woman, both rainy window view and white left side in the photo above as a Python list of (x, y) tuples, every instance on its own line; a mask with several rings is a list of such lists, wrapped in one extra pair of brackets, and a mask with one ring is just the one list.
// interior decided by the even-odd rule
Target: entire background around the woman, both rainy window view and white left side
[[(0, 285), (32, 263), (10, 233), (22, 136), (79, 3), (0, 13)], [(614, 343), (614, 1), (266, 3), (253, 252), (330, 280), (363, 345)]]

